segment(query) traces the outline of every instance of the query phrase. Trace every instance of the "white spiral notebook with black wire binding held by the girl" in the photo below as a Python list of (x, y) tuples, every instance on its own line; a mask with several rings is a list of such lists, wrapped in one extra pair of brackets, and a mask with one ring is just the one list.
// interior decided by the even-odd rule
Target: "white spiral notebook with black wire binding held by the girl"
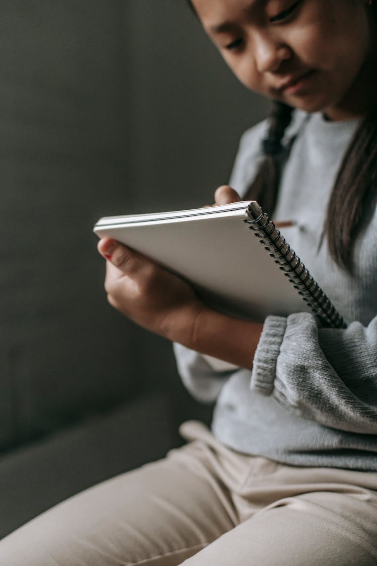
[(345, 322), (256, 201), (187, 211), (101, 218), (94, 226), (185, 278), (209, 305), (263, 320), (313, 311)]

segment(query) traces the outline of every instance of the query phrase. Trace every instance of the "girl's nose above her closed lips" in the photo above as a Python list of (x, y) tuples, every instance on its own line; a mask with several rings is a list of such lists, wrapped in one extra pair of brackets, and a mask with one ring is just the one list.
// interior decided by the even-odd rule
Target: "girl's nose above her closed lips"
[(277, 71), (283, 61), (292, 57), (288, 45), (277, 41), (267, 33), (254, 36), (253, 43), (255, 65), (260, 73)]

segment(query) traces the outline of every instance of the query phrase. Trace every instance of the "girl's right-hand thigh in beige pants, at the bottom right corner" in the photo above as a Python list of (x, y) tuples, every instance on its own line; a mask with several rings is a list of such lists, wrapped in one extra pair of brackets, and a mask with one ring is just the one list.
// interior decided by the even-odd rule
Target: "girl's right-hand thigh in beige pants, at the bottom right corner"
[(376, 498), (366, 501), (317, 492), (283, 499), (255, 513), (184, 564), (375, 566)]

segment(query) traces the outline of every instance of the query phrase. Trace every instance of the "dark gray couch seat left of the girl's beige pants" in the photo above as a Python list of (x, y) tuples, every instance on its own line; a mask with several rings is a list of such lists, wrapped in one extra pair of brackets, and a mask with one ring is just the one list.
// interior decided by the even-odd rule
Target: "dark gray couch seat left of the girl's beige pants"
[(69, 496), (163, 457), (177, 435), (155, 393), (0, 458), (0, 538)]

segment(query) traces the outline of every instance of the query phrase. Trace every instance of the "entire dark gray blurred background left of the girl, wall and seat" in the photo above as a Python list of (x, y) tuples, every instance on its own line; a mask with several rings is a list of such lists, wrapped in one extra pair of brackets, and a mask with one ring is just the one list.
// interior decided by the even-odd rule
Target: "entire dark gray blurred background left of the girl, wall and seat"
[(185, 0), (0, 5), (0, 538), (210, 422), (106, 302), (100, 216), (200, 207), (266, 103)]

